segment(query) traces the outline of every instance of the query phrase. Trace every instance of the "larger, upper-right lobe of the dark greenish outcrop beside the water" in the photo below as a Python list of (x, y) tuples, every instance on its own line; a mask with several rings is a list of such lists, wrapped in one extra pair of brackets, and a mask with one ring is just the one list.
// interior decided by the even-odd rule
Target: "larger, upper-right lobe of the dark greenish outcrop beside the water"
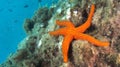
[(54, 8), (42, 7), (33, 16), (33, 21), (36, 23), (43, 24), (43, 27), (48, 25), (48, 21), (51, 19), (54, 14)]

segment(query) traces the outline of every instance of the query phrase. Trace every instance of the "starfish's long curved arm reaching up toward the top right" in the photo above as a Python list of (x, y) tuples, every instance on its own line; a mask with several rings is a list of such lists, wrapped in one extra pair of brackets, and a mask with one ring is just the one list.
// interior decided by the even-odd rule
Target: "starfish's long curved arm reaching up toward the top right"
[(88, 15), (87, 21), (83, 25), (76, 28), (79, 32), (84, 32), (88, 27), (90, 27), (92, 17), (94, 14), (94, 10), (95, 10), (95, 5), (92, 4), (91, 9), (90, 9), (90, 14)]

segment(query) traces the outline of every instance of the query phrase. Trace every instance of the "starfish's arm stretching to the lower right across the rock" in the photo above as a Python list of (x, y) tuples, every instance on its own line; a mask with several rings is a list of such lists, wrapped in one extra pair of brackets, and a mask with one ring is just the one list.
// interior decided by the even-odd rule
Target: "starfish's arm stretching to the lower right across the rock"
[(90, 35), (87, 34), (76, 34), (76, 36), (74, 37), (75, 39), (83, 39), (83, 40), (87, 40), (88, 42), (96, 45), (96, 46), (109, 46), (109, 42), (101, 42), (97, 39), (95, 39), (94, 37), (91, 37)]

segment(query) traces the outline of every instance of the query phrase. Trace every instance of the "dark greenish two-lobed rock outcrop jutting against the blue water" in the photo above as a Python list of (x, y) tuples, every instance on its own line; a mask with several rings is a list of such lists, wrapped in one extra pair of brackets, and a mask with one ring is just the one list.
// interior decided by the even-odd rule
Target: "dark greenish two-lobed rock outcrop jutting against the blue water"
[(36, 28), (36, 25), (39, 25), (39, 27), (46, 28), (48, 25), (49, 19), (51, 19), (52, 14), (54, 13), (54, 8), (48, 8), (48, 7), (41, 7), (33, 16), (32, 19), (25, 19), (24, 22), (24, 29), (27, 34), (34, 33), (34, 28)]

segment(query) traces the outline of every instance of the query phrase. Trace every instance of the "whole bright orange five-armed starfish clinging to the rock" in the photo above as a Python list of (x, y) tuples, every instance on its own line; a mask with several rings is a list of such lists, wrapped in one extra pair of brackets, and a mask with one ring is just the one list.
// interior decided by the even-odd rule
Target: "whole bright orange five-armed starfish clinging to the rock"
[(70, 21), (56, 21), (56, 24), (60, 26), (66, 26), (64, 28), (58, 29), (56, 31), (49, 32), (51, 35), (64, 35), (64, 40), (62, 42), (62, 53), (63, 53), (63, 60), (64, 62), (68, 62), (68, 50), (70, 46), (70, 42), (73, 39), (82, 39), (87, 40), (88, 42), (96, 45), (96, 46), (108, 46), (109, 42), (101, 42), (99, 40), (96, 40), (94, 37), (91, 37), (90, 35), (83, 34), (83, 32), (90, 26), (92, 21), (92, 16), (94, 14), (95, 5), (91, 5), (90, 14), (88, 16), (87, 21), (75, 28), (75, 26)]

